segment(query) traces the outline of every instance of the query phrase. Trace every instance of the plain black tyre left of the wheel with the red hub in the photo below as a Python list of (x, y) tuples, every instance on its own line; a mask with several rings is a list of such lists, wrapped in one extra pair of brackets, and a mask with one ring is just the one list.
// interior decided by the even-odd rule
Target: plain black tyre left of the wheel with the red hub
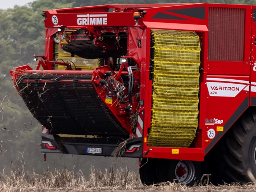
[(158, 159), (143, 158), (140, 165), (140, 180), (144, 185), (153, 185), (159, 183), (157, 177)]

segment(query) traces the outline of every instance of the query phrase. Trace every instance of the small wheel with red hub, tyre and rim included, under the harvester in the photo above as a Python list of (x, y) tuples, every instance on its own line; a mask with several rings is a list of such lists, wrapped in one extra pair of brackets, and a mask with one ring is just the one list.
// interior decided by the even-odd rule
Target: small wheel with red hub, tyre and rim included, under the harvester
[(169, 181), (193, 186), (202, 176), (201, 162), (173, 160), (169, 166)]

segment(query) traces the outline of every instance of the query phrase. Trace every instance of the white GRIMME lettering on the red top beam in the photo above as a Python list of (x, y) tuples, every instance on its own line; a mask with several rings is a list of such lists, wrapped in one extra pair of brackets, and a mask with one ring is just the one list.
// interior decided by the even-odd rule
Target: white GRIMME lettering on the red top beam
[(77, 17), (77, 25), (108, 25), (107, 14), (86, 14)]

